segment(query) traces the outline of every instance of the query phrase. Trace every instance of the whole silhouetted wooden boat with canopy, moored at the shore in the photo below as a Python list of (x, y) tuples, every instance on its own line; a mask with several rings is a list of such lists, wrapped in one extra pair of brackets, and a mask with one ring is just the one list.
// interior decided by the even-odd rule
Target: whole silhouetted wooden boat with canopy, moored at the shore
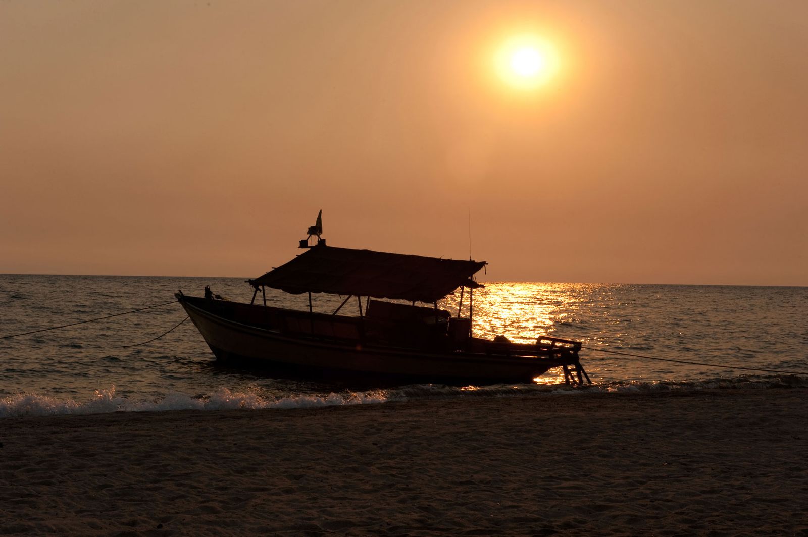
[[(581, 342), (542, 335), (525, 344), (473, 335), (473, 291), (484, 287), (474, 275), (486, 262), (326, 245), (322, 211), (299, 245), (304, 253), (246, 280), (254, 290), (250, 304), (221, 300), (208, 287), (201, 297), (175, 295), (218, 361), (284, 378), (497, 384), (532, 382), (560, 367), (568, 383), (590, 381), (579, 359)], [(308, 294), (308, 311), (267, 304), (267, 287)], [(452, 315), (438, 301), (458, 288), (460, 305)], [(313, 293), (345, 298), (334, 312), (315, 312)], [(341, 315), (351, 299), (359, 314)]]

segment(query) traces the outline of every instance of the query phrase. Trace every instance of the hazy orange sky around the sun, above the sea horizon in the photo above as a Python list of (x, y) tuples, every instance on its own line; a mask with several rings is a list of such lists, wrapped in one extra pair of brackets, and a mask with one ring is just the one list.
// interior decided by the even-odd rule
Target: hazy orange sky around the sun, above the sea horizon
[[(508, 86), (511, 36), (558, 71)], [(805, 0), (0, 2), (0, 272), (808, 285)]]

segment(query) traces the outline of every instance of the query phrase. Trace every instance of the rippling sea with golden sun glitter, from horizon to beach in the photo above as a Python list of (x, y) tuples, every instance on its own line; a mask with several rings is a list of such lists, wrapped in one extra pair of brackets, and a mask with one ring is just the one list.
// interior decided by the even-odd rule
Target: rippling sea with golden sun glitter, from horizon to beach
[[(808, 387), (808, 287), (485, 283), (473, 292), (473, 334), (583, 342), (593, 384), (549, 371), (527, 384), (448, 386), (286, 380), (222, 365), (174, 300), (205, 286), (226, 300), (252, 296), (244, 278), (0, 275), (0, 418)], [(454, 315), (460, 299), (439, 306)], [(327, 313), (342, 302), (313, 301)], [(308, 297), (267, 290), (267, 304), (307, 309)], [(356, 310), (349, 301), (341, 313)], [(7, 337), (61, 325), (70, 326)]]

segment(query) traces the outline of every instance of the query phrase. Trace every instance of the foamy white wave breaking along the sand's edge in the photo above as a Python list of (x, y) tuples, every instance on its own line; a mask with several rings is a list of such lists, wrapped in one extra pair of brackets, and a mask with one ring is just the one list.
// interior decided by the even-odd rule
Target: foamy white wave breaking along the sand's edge
[(326, 406), (373, 405), (386, 402), (541, 395), (584, 395), (587, 393), (655, 393), (701, 390), (808, 388), (808, 378), (798, 375), (741, 375), (687, 381), (625, 381), (575, 386), (570, 384), (498, 384), (494, 386), (446, 386), (412, 384), (399, 388), (364, 392), (330, 392), (264, 396), (254, 391), (218, 388), (202, 396), (168, 393), (158, 401), (137, 401), (117, 396), (116, 388), (95, 390), (89, 401), (59, 399), (37, 393), (18, 393), (0, 399), (0, 418), (78, 415), (112, 412), (162, 412), (168, 410), (261, 410), (309, 409)]

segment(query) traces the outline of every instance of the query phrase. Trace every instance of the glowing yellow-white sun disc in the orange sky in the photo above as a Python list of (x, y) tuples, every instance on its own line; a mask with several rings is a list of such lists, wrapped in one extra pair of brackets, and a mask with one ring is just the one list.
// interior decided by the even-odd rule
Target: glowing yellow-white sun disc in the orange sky
[(534, 90), (558, 71), (558, 54), (541, 37), (525, 34), (507, 40), (494, 57), (499, 77), (512, 88)]

